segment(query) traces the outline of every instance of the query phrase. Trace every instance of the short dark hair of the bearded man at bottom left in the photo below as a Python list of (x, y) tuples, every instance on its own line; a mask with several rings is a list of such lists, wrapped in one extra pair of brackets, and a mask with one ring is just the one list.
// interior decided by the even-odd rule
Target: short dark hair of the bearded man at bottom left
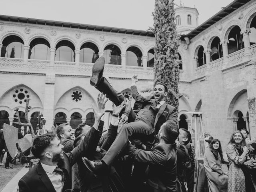
[(42, 158), (43, 152), (52, 145), (51, 141), (55, 138), (57, 138), (57, 135), (54, 133), (47, 133), (36, 137), (31, 147), (32, 154), (36, 158)]

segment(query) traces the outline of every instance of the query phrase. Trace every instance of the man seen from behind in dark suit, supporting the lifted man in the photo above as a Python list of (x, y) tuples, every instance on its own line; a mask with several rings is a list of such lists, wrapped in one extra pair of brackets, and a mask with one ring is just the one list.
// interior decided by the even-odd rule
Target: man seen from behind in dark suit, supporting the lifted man
[(176, 192), (176, 162), (177, 151), (175, 140), (178, 137), (179, 128), (176, 123), (162, 124), (158, 132), (159, 143), (156, 143), (152, 151), (138, 149), (128, 144), (128, 155), (136, 162), (148, 163), (146, 170), (148, 180), (147, 192)]

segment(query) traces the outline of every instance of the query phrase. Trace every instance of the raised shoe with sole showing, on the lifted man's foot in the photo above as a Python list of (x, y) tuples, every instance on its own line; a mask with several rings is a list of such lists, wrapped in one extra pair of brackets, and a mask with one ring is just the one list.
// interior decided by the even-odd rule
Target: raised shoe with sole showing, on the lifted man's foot
[(105, 64), (105, 58), (100, 57), (96, 60), (92, 67), (92, 76), (90, 79), (90, 84), (94, 87), (96, 87), (103, 75), (103, 70), (104, 70), (104, 64)]

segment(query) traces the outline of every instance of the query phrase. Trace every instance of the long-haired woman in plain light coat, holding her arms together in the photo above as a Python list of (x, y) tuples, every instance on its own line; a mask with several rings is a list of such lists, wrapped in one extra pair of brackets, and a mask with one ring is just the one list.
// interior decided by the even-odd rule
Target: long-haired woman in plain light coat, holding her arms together
[(226, 192), (228, 188), (228, 172), (221, 169), (223, 162), (220, 140), (212, 139), (204, 153), (204, 169), (209, 192)]

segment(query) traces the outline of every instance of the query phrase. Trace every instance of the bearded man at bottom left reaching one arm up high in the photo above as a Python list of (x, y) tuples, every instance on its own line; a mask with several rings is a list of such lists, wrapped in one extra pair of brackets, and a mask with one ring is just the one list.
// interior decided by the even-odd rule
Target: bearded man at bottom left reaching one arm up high
[(71, 189), (71, 167), (78, 159), (96, 150), (95, 141), (101, 135), (99, 130), (102, 128), (99, 128), (99, 124), (106, 101), (105, 96), (98, 100), (98, 110), (93, 106), (94, 125), (71, 152), (63, 152), (64, 146), (55, 134), (44, 134), (35, 138), (31, 150), (40, 161), (20, 179), (20, 192), (64, 192)]

